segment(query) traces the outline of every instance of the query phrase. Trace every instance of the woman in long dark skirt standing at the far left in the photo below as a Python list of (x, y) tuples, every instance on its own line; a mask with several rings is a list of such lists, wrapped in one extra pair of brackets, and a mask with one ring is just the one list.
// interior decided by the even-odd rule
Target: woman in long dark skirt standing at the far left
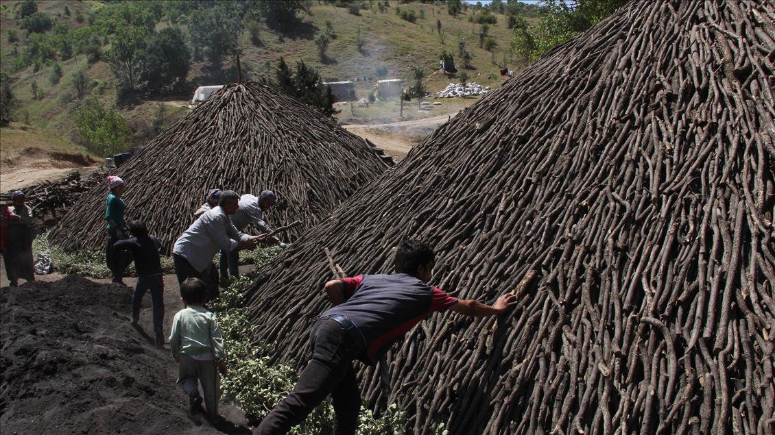
[(33, 262), (33, 210), (25, 204), (24, 192), (11, 194), (13, 207), (8, 216), (8, 235), (5, 246), (5, 272), (10, 286), (18, 286), (19, 278), (35, 280)]

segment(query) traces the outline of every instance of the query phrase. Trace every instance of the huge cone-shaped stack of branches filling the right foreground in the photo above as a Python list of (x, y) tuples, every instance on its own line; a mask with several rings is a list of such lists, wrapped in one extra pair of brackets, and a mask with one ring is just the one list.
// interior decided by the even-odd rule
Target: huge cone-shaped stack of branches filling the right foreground
[(433, 284), (519, 302), (422, 322), (388, 354), (390, 389), (360, 369), (407, 430), (772, 433), (773, 19), (631, 2), (547, 53), (258, 276), (253, 339), (301, 366), (334, 276), (320, 248), (391, 272), (391, 248), (425, 238)]

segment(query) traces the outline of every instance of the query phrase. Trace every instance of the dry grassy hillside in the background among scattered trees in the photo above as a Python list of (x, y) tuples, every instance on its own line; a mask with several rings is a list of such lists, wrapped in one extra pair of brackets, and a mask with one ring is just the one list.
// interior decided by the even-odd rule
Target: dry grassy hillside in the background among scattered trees
[[(364, 4), (368, 3), (364, 2)], [(374, 3), (372, 2), (372, 5)], [(124, 104), (117, 104), (119, 103), (117, 98), (119, 83), (110, 67), (103, 60), (95, 60), (94, 56), (91, 59), (93, 61), (89, 62), (86, 54), (77, 54), (67, 60), (62, 60), (57, 54), (55, 58), (61, 67), (62, 77), (58, 82), (52, 82), (50, 80), (53, 69), (51, 61), (33, 64), (22, 69), (18, 67), (19, 53), (26, 53), (29, 45), (35, 43), (36, 38), (40, 37), (35, 34), (27, 35), (26, 31), (20, 28), (21, 22), (15, 18), (18, 4), (19, 2), (14, 1), (0, 3), (2, 80), (10, 84), (17, 101), (14, 111), (15, 120), (28, 121), (35, 128), (53, 133), (58, 139), (65, 141), (75, 139), (73, 113), (83, 104), (83, 101), (74, 98), (74, 87), (71, 84), (71, 76), (77, 71), (83, 71), (88, 77), (86, 98), (97, 98), (108, 107), (117, 106), (128, 120), (130, 127), (136, 130), (147, 129), (161, 101), (167, 101), (164, 118), (165, 123), (169, 125), (188, 110), (180, 108), (181, 101), (191, 98), (190, 90), (193, 87), (202, 84), (218, 84), (206, 77), (204, 73), (206, 63), (200, 61), (192, 65), (187, 77), (189, 87), (184, 93), (167, 94), (164, 97), (146, 95), (130, 103), (124, 101)], [(96, 15), (95, 11), (106, 7), (102, 2), (61, 0), (38, 1), (36, 5), (38, 11), (53, 19), (53, 29), (47, 31), (49, 36), (57, 32), (57, 24), (64, 25), (67, 29), (88, 26), (89, 15)], [(324, 80), (350, 80), (356, 77), (376, 79), (377, 67), (387, 67), (389, 78), (400, 77), (409, 80), (412, 68), (418, 66), (425, 70), (425, 85), (429, 91), (439, 91), (449, 82), (457, 81), (456, 77), (446, 77), (442, 71), (439, 71), (439, 55), (444, 50), (453, 53), (458, 68), (462, 70), (462, 62), (458, 57), (459, 41), (466, 43), (467, 50), (473, 56), (471, 62), (473, 68), (467, 70), (470, 81), (497, 87), (504, 81), (498, 72), (501, 64), (506, 62), (512, 69), (521, 67), (508, 63), (510, 59), (508, 47), (512, 40), (512, 32), (506, 29), (504, 15), (495, 14), (498, 22), (489, 25), (489, 35), (498, 43), (498, 47), (491, 53), (479, 48), (480, 25), (468, 21), (469, 16), (474, 13), (473, 8), (461, 12), (455, 18), (447, 13), (445, 2), (439, 2), (436, 5), (390, 2), (389, 6), (385, 12), (379, 12), (374, 5), (372, 9), (361, 10), (360, 15), (353, 15), (346, 8), (313, 2), (309, 14), (299, 15), (301, 23), (284, 33), (270, 29), (265, 22), (260, 21), (258, 24), (260, 42), (251, 42), (250, 33), (247, 30), (240, 35), (239, 45), (243, 52), (244, 75), (248, 79), (272, 76), (274, 66), (281, 56), (291, 66), (296, 60), (304, 60), (318, 68)], [(69, 15), (65, 13), (66, 8), (70, 12)], [(396, 13), (396, 8), (412, 9), (418, 16), (417, 21), (412, 23), (401, 19)], [(157, 29), (168, 26), (168, 19), (169, 17), (165, 17), (162, 22), (157, 23)], [(437, 19), (442, 24), (443, 43), (436, 31)], [(330, 22), (333, 38), (328, 48), (328, 59), (323, 62), (319, 58), (314, 39), (325, 30), (326, 22)], [(60, 26), (59, 31), (62, 31), (64, 26)], [(363, 50), (360, 51), (355, 42), (359, 30), (364, 42)], [(15, 33), (18, 40), (9, 42), (10, 33)], [(88, 38), (89, 43), (97, 44), (102, 53), (108, 50), (108, 43), (111, 40), (108, 34), (88, 34), (84, 38)], [(230, 65), (227, 64), (226, 68), (229, 67)], [(33, 95), (33, 81), (37, 87), (37, 98)], [(363, 98), (372, 86), (371, 81), (359, 81), (356, 94), (359, 98)], [(473, 101), (475, 99), (471, 98), (464, 101), (445, 101), (444, 104), (457, 109)], [(348, 113), (343, 118), (349, 122), (368, 122), (367, 118), (371, 112), (361, 110), (360, 116)], [(375, 115), (375, 118), (386, 119), (381, 112), (380, 115)], [(412, 118), (412, 115), (409, 118)], [(5, 128), (2, 133), (0, 142), (5, 147)], [(138, 140), (144, 139), (143, 137)]]

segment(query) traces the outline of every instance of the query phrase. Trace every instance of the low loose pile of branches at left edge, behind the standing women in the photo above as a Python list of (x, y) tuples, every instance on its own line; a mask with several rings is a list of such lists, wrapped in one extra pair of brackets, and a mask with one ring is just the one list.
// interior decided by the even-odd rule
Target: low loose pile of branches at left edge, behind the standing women
[[(106, 171), (95, 171), (81, 180), (81, 174), (73, 171), (62, 180), (37, 183), (33, 187), (22, 189), (26, 197), (26, 204), (33, 209), (33, 215), (46, 219), (56, 219), (67, 211), (67, 207), (75, 204), (81, 198), (81, 194), (97, 186), (105, 180)], [(0, 194), (0, 202), (10, 204), (11, 194), (14, 190)]]

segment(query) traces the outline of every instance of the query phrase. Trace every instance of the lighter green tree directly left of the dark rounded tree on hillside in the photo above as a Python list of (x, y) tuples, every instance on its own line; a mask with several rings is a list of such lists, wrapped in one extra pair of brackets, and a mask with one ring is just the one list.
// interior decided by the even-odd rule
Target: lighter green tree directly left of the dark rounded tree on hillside
[(105, 59), (110, 64), (115, 77), (127, 90), (136, 88), (140, 78), (140, 57), (146, 46), (148, 34), (137, 26), (124, 26), (115, 34)]

